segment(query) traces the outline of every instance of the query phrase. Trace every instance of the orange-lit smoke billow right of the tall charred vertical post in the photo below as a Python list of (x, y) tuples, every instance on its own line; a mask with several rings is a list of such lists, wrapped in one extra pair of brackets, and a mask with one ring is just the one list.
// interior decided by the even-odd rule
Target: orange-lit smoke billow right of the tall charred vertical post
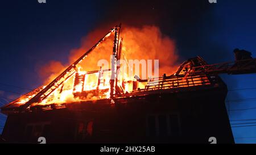
[(123, 32), (123, 52), (133, 60), (159, 60), (159, 73), (171, 74), (178, 59), (175, 41), (160, 32), (159, 27), (127, 27)]

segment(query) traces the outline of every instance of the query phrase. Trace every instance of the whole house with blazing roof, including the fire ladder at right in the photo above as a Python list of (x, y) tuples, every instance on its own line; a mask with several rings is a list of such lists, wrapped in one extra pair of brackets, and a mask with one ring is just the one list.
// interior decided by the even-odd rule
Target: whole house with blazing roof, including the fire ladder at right
[[(1, 108), (7, 143), (234, 143), (220, 73), (255, 73), (255, 59), (208, 65), (191, 58), (174, 74), (141, 79), (118, 72), (120, 27), (47, 85)], [(114, 36), (111, 69), (82, 70), (90, 52)]]

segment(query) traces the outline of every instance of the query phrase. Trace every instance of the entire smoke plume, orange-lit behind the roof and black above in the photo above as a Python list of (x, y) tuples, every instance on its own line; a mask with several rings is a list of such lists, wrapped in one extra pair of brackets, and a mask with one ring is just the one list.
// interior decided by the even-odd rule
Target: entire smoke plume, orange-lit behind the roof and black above
[[(203, 24), (201, 19), (205, 14), (208, 14), (211, 25), (209, 28), (212, 27), (213, 17), (210, 14), (212, 9), (208, 2), (131, 0), (96, 1), (96, 3), (99, 12), (96, 27), (82, 39), (80, 48), (71, 50), (69, 62), (66, 65), (50, 62), (39, 69), (40, 74), (51, 76), (49, 79), (56, 77), (56, 74), (59, 74), (57, 70), (62, 70), (63, 66), (75, 61), (86, 49), (92, 47), (100, 37), (104, 36), (109, 28), (119, 23), (122, 23), (123, 27), (121, 35), (124, 39), (123, 52), (126, 57), (138, 60), (159, 59), (160, 74), (171, 74), (179, 62), (205, 53), (200, 49), (203, 45), (200, 42), (210, 44), (210, 40), (204, 36), (207, 33), (201, 32), (198, 27), (201, 23)], [(187, 32), (187, 35), (184, 32)], [(98, 70), (96, 64), (98, 60), (110, 60), (112, 45), (113, 37), (105, 41), (82, 62), (82, 69)], [(218, 46), (208, 48), (212, 50)], [(207, 55), (208, 58), (212, 58), (216, 56), (216, 52), (208, 52)]]

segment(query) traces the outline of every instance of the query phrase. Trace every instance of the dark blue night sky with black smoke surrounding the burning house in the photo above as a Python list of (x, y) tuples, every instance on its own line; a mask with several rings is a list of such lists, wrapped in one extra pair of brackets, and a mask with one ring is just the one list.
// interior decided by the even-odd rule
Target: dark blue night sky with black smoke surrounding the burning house
[[(88, 32), (120, 22), (160, 27), (175, 40), (179, 62), (197, 55), (209, 64), (233, 61), (234, 48), (256, 57), (253, 0), (46, 1), (0, 1), (1, 106), (42, 85), (40, 66), (51, 60), (67, 64)], [(255, 74), (221, 77), (229, 89), (226, 107), (236, 143), (256, 143)], [(0, 114), (0, 132), (5, 120)]]

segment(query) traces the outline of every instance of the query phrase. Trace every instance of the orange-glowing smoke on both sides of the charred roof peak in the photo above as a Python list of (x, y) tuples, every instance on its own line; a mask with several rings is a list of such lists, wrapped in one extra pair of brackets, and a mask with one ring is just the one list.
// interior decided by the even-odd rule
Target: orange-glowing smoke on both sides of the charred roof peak
[[(87, 49), (97, 43), (107, 31), (101, 28), (88, 33), (81, 41), (80, 48), (72, 49), (69, 55), (69, 63), (76, 61)], [(141, 28), (123, 26), (121, 30), (123, 37), (122, 53), (127, 60), (159, 60), (159, 73), (174, 73), (177, 68), (178, 59), (175, 41), (164, 35), (159, 27), (143, 26)], [(100, 69), (97, 66), (99, 60), (107, 60), (110, 64), (110, 55), (112, 55), (113, 36), (96, 48), (79, 64), (81, 70), (90, 71)], [(50, 61), (40, 70), (40, 77), (49, 77), (47, 82), (52, 80), (64, 69), (63, 64), (58, 61)], [(67, 65), (66, 65), (67, 67)], [(154, 73), (154, 70), (152, 70)]]

